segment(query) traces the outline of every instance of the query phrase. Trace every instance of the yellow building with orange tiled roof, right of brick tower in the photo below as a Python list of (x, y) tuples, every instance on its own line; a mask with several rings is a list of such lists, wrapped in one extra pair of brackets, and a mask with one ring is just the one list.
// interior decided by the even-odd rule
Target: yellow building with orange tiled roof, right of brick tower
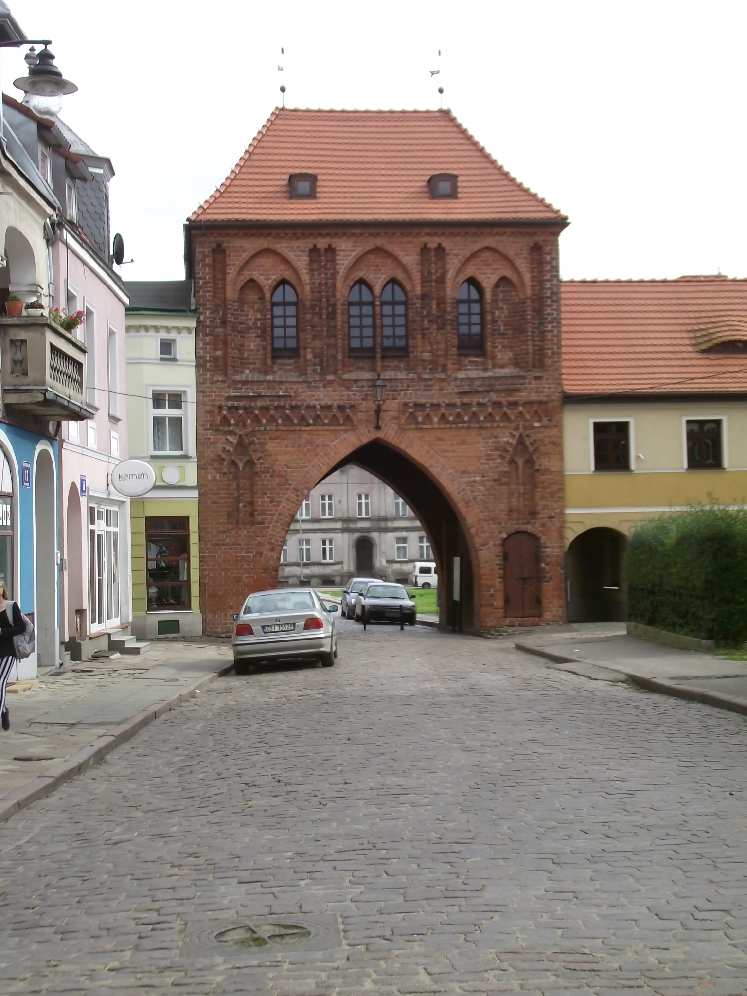
[(637, 523), (747, 503), (747, 282), (563, 286), (569, 622), (624, 621)]

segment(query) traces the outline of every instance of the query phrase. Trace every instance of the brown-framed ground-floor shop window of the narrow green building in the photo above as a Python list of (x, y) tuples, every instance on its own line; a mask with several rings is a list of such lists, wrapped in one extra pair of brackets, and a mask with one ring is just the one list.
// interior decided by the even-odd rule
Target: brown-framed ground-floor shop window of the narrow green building
[(183, 612), (189, 591), (189, 519), (145, 519), (147, 610)]

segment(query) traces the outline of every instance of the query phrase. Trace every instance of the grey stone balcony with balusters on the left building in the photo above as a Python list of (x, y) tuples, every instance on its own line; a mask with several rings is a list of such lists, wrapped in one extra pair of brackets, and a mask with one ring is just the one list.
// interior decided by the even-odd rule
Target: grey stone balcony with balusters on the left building
[(7, 408), (72, 422), (86, 404), (86, 347), (46, 317), (0, 318), (0, 383)]

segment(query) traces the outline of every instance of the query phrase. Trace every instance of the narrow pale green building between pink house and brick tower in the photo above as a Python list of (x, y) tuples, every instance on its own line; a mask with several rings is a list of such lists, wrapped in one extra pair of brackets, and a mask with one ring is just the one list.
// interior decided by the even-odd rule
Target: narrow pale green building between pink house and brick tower
[(132, 632), (200, 635), (194, 311), (189, 281), (127, 284), (129, 455), (155, 470), (130, 500)]

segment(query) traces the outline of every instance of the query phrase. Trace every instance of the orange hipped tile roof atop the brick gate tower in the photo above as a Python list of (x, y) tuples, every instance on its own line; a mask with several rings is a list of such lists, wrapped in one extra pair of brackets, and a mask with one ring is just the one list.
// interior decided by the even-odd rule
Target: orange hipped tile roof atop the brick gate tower
[[(315, 199), (289, 197), (292, 173), (314, 173)], [(456, 173), (458, 197), (430, 197), (434, 173)], [(190, 221), (565, 221), (514, 179), (446, 111), (276, 109)]]

